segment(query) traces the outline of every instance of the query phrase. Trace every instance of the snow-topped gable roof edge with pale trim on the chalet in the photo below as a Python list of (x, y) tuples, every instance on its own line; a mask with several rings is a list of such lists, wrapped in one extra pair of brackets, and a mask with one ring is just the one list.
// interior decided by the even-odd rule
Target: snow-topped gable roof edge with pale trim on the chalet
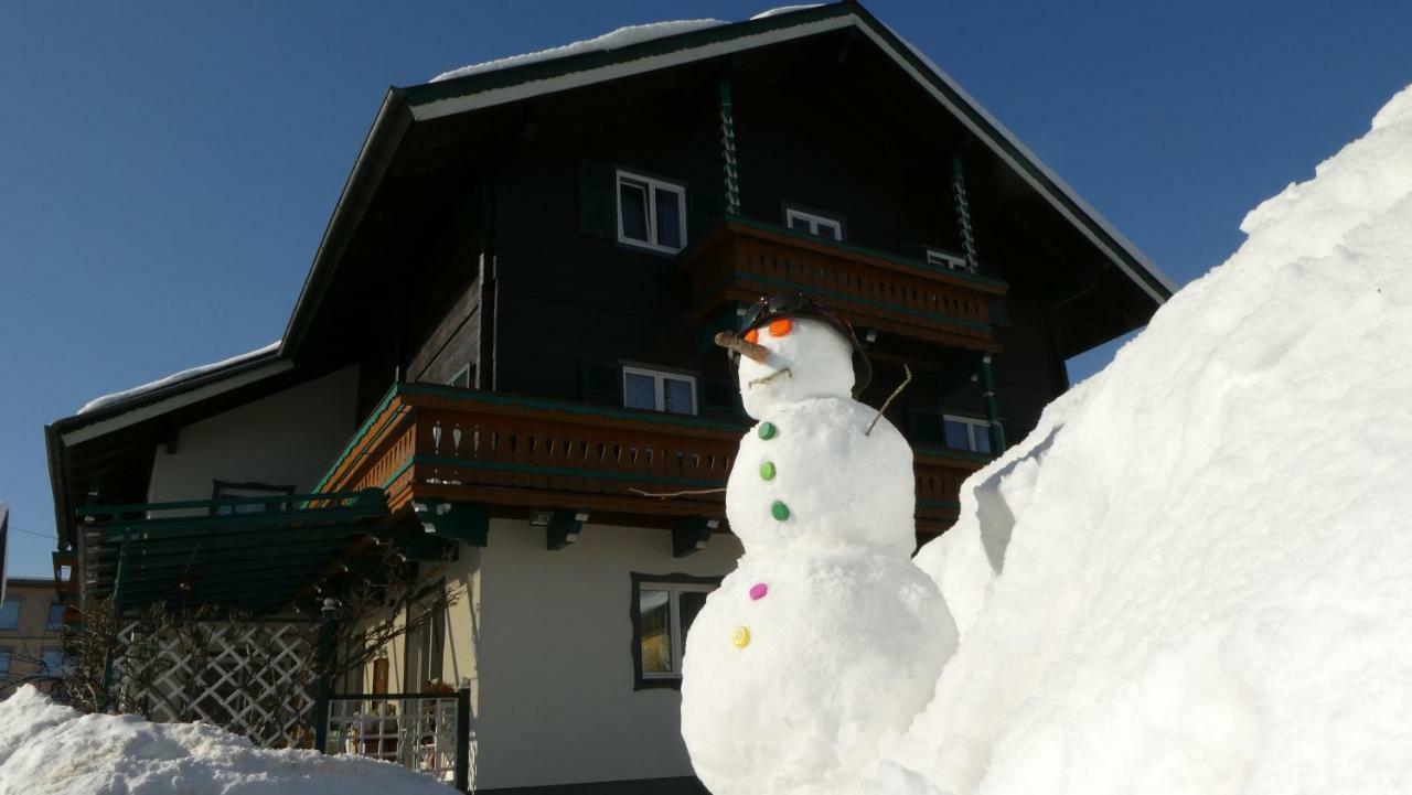
[[(757, 16), (741, 23), (698, 23), (705, 21), (621, 28), (562, 48), (455, 69), (438, 75), (429, 83), (391, 89), (364, 138), (353, 172), (325, 230), (285, 329), (281, 353), (288, 356), (298, 350), (311, 315), (322, 299), (332, 271), (337, 267), (339, 254), (356, 229), (363, 209), (371, 201), (371, 193), (395, 154), (400, 140), (412, 124), (847, 28), (871, 41), (907, 76), (959, 119), (977, 141), (1011, 167), (1148, 298), (1162, 304), (1175, 292), (1172, 280), (1035, 157), (1014, 133), (936, 64), (861, 4), (843, 0), (829, 6)], [(626, 31), (640, 31), (642, 35), (618, 35)]]

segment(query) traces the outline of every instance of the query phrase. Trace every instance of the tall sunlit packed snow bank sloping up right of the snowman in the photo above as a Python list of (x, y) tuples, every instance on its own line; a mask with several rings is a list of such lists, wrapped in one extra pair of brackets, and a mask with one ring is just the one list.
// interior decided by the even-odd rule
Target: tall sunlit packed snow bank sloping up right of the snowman
[(1412, 791), (1412, 89), (1241, 229), (918, 556), (894, 791)]

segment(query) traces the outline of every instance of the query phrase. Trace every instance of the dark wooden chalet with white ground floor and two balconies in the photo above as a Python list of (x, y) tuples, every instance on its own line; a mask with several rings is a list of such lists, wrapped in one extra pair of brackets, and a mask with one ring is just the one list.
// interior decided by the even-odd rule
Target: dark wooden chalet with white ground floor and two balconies
[(387, 93), (277, 346), (48, 426), (58, 559), (298, 620), (449, 555), (335, 689), (465, 686), (477, 792), (700, 792), (682, 635), (741, 546), (690, 491), (750, 426), (712, 336), (777, 291), (857, 328), (866, 402), (914, 373), (925, 541), (1172, 287), (857, 3), (490, 64)]

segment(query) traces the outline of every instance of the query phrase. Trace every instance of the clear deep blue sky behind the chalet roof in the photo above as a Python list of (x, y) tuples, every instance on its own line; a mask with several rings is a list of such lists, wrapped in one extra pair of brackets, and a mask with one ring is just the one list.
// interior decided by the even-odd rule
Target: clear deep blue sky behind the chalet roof
[[(280, 336), (390, 83), (767, 1), (0, 4), (11, 572), (54, 545), (44, 424)], [(867, 6), (1182, 284), (1412, 83), (1405, 0)]]

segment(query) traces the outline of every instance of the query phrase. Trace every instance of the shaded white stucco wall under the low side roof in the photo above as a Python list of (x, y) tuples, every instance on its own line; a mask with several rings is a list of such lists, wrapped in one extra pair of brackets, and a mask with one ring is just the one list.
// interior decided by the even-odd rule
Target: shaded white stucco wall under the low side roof
[(157, 448), (147, 500), (209, 500), (215, 480), (306, 493), (357, 429), (356, 400), (347, 367), (188, 425), (175, 453)]

